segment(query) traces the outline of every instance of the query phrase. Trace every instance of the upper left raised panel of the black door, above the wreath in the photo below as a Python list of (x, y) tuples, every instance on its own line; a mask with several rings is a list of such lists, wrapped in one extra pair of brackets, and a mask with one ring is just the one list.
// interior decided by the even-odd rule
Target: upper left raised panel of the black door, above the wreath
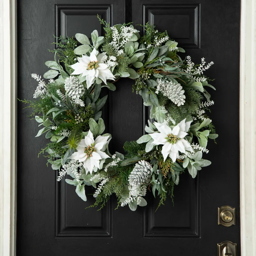
[(103, 26), (97, 14), (108, 23), (112, 20), (111, 4), (56, 4), (55, 12), (57, 37), (75, 37), (76, 33), (82, 33), (91, 39), (90, 35), (94, 29), (98, 31), (99, 36), (104, 36)]

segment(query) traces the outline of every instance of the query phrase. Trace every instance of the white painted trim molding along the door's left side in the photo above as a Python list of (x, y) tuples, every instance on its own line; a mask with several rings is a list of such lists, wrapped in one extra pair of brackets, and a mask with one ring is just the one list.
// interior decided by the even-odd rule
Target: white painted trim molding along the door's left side
[(16, 6), (0, 0), (0, 256), (16, 255)]

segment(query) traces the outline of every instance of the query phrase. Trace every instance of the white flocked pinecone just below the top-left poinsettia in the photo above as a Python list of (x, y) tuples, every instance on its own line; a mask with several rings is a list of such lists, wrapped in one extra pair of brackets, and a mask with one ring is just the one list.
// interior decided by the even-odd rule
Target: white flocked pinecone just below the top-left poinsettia
[(84, 85), (80, 84), (75, 76), (66, 78), (65, 90), (72, 100), (79, 99), (85, 92)]

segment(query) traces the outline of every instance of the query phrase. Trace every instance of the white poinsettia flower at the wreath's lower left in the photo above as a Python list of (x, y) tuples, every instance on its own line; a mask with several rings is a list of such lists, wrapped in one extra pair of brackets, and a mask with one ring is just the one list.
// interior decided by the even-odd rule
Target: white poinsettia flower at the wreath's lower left
[(77, 152), (73, 153), (69, 159), (78, 160), (79, 163), (83, 162), (83, 166), (86, 174), (90, 172), (97, 172), (102, 168), (106, 158), (109, 156), (103, 152), (107, 149), (109, 136), (99, 135), (95, 140), (91, 130), (89, 130), (87, 136), (82, 139), (77, 146)]

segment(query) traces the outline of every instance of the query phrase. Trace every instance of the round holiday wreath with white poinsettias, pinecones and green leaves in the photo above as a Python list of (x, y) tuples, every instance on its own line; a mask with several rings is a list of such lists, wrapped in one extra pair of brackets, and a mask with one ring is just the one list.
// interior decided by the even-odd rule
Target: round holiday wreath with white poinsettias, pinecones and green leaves
[[(58, 38), (60, 47), (52, 51), (55, 60), (45, 62), (50, 70), (44, 78), (49, 81), (32, 74), (39, 82), (36, 101), (22, 102), (29, 103), (31, 116), (37, 113), (35, 119), (43, 127), (36, 137), (46, 133), (51, 140), (40, 153), (47, 152), (48, 163), (59, 170), (58, 181), (66, 174), (72, 177), (66, 182), (76, 186), (84, 201), (87, 185), (96, 188), (92, 206), (103, 207), (116, 194), (118, 206), (128, 204), (135, 211), (137, 205), (147, 204), (147, 188), (160, 196), (159, 205), (164, 204), (167, 195), (173, 197), (182, 172), (188, 170), (195, 178), (198, 170), (211, 164), (202, 154), (209, 152), (208, 139), (218, 135), (205, 112), (214, 103), (205, 88), (215, 88), (203, 72), (213, 62), (206, 65), (202, 58), (195, 65), (190, 56), (181, 60), (177, 53), (184, 49), (154, 25), (147, 23), (140, 37), (130, 23), (110, 27), (100, 22), (105, 37), (94, 30), (92, 43), (83, 34), (76, 34), (76, 40)], [(113, 83), (121, 77), (135, 80), (132, 90), (151, 106), (155, 122), (148, 121), (147, 134), (137, 141), (124, 143), (126, 155), (111, 155), (111, 134), (103, 134), (101, 118), (107, 96), (99, 96), (102, 87), (116, 90)]]

